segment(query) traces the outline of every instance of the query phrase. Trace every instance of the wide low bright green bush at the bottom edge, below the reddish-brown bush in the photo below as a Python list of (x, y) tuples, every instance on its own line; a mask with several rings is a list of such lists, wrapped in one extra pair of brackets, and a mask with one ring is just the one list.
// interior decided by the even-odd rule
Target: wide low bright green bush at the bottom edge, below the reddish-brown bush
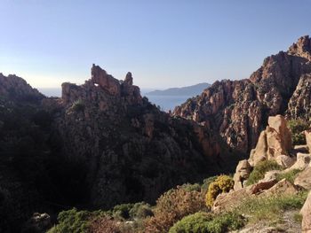
[(242, 215), (235, 213), (212, 216), (207, 213), (196, 213), (178, 221), (169, 233), (221, 233), (240, 229), (244, 225)]

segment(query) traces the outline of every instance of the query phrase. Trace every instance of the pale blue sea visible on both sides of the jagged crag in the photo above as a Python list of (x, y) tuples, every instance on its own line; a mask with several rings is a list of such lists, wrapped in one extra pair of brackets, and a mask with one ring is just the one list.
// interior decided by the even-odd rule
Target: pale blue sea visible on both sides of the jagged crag
[[(39, 88), (41, 93), (46, 97), (60, 97), (61, 89), (60, 88)], [(148, 100), (157, 106), (160, 106), (160, 109), (164, 112), (169, 112), (174, 110), (178, 105), (184, 103), (189, 97), (188, 96), (153, 96), (148, 95), (152, 89), (142, 89), (141, 96), (148, 97)]]

